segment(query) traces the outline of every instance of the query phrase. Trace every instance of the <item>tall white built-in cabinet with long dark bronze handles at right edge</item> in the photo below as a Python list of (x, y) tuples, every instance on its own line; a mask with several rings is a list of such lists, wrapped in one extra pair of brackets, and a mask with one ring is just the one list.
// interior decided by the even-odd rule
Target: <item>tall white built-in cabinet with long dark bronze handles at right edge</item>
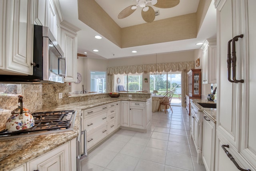
[(222, 145), (226, 145), (240, 167), (256, 170), (256, 1), (216, 0), (215, 5), (218, 24), (216, 170), (234, 167), (233, 162), (224, 162), (230, 159)]

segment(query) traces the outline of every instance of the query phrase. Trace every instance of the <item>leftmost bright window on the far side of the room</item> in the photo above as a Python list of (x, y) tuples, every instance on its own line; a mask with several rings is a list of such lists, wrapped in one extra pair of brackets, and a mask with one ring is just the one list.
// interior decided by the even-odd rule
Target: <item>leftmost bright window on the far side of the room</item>
[(90, 72), (90, 91), (106, 93), (106, 72)]

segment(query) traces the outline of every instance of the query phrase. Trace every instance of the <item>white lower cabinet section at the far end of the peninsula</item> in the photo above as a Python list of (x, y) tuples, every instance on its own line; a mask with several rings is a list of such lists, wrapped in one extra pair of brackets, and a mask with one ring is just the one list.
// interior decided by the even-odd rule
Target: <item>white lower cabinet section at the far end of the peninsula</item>
[(146, 131), (151, 123), (151, 100), (122, 101), (121, 126), (122, 128), (134, 128), (138, 131)]

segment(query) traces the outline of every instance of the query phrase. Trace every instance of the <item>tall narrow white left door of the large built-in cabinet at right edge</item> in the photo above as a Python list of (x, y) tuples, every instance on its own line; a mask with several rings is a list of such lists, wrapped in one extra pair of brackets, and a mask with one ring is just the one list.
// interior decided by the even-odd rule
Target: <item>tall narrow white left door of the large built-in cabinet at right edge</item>
[[(241, 83), (231, 83), (227, 78), (227, 52), (228, 52), (228, 41), (231, 40), (234, 36), (240, 35), (237, 33), (240, 30), (238, 26), (236, 28), (236, 21), (233, 22), (233, 18), (238, 18), (239, 12), (236, 10), (236, 2), (233, 0), (221, 1), (224, 3), (223, 6), (220, 4), (220, 9), (217, 9), (217, 18), (218, 18), (218, 100), (217, 100), (217, 122), (216, 129), (218, 129), (224, 137), (226, 137), (232, 145), (237, 149), (239, 146), (239, 132), (240, 132), (240, 107), (241, 107), (241, 98), (240, 89)], [(235, 20), (235, 19), (234, 19)], [(239, 39), (236, 42), (236, 68), (240, 71), (241, 67), (241, 50), (240, 50)], [(225, 58), (224, 58), (225, 56)], [(231, 74), (232, 75), (232, 74)], [(240, 73), (237, 73), (238, 80), (241, 79)]]

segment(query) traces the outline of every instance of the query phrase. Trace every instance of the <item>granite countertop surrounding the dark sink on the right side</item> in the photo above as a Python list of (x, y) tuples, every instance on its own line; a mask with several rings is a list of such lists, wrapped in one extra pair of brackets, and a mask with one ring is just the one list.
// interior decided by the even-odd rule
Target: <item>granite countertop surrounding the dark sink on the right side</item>
[(214, 123), (216, 123), (217, 109), (202, 107), (198, 103), (216, 103), (216, 100), (190, 99), (190, 101), (198, 107), (199, 111), (204, 112)]

